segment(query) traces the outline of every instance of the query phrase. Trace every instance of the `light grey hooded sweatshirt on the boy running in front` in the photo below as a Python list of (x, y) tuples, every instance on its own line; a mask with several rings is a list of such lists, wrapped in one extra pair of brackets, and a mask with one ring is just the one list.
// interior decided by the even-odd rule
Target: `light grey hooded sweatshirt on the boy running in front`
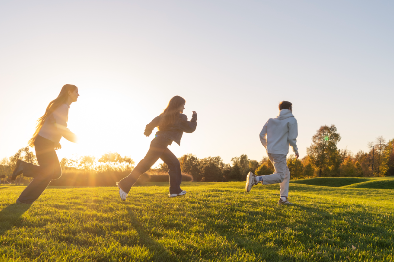
[(260, 132), (260, 141), (267, 149), (268, 154), (287, 155), (289, 145), (293, 152), (298, 153), (297, 148), (298, 124), (289, 109), (279, 111), (276, 118), (270, 118)]

